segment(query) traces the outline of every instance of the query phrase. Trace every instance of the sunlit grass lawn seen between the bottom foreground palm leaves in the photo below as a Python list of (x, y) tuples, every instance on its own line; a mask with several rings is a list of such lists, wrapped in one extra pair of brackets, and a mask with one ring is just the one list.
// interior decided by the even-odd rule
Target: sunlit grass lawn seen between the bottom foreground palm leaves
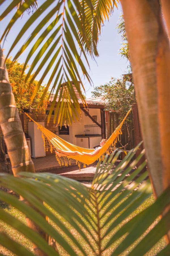
[[(154, 197), (153, 195), (151, 195), (148, 199), (145, 200), (145, 202), (143, 202), (143, 204), (137, 208), (137, 210), (135, 210), (129, 217), (127, 220), (131, 219), (133, 216), (135, 216), (136, 214), (138, 214), (139, 212), (141, 212), (143, 209), (147, 208), (149, 205), (151, 205), (154, 202)], [(23, 213), (21, 213), (20, 211), (18, 211), (17, 209), (15, 209), (14, 207), (8, 206), (8, 205), (4, 205), (3, 202), (0, 203), (0, 206), (2, 208), (4, 208), (4, 210), (10, 214), (12, 214), (13, 216), (15, 216), (16, 218), (18, 218), (20, 221), (22, 221), (23, 223), (26, 224), (25, 221), (25, 215)], [(54, 214), (56, 214), (56, 212), (54, 212), (54, 210), (50, 209)], [(58, 216), (58, 215), (57, 215)], [(105, 216), (105, 218), (107, 218), (107, 216)], [(83, 238), (76, 232), (76, 230), (69, 225), (64, 218), (62, 218), (61, 216), (58, 216), (58, 218), (60, 218), (63, 223), (67, 226), (67, 228), (73, 233), (73, 235), (76, 237), (76, 239), (82, 244), (82, 247), (84, 248), (84, 250), (86, 251), (87, 255), (94, 255), (93, 252), (91, 251), (91, 249), (88, 247), (87, 243), (83, 240)], [(124, 223), (127, 221), (124, 220)], [(145, 220), (144, 220), (145, 221)], [(158, 221), (158, 220), (157, 220)], [(156, 224), (156, 222), (154, 224)], [(123, 224), (124, 224), (123, 223)], [(52, 225), (54, 225), (57, 229), (58, 227), (56, 226), (56, 224), (52, 223)], [(152, 224), (152, 226), (154, 225)], [(10, 237), (12, 237), (14, 240), (18, 241), (19, 243), (23, 244), (25, 247), (27, 247), (28, 249), (32, 250), (32, 243), (24, 237), (24, 235), (20, 234), (19, 232), (17, 232), (16, 230), (14, 230), (13, 228), (11, 228), (10, 226), (8, 226), (7, 224), (3, 223), (0, 221), (0, 228), (1, 231), (6, 232)], [(107, 227), (105, 227), (107, 228)], [(116, 232), (118, 229), (120, 228), (120, 226), (117, 226), (112, 233)], [(150, 229), (150, 228), (149, 228)], [(148, 229), (148, 230), (149, 230)], [(59, 232), (61, 232), (61, 234), (65, 237), (66, 240), (69, 241), (67, 235), (65, 235), (62, 230), (59, 230)], [(105, 230), (103, 230), (103, 232), (105, 232)], [(111, 237), (112, 234), (109, 234), (109, 236), (107, 236), (104, 240), (103, 240), (103, 245), (109, 240), (109, 237)], [(89, 237), (90, 239), (90, 237)], [(106, 251), (103, 252), (103, 255), (110, 255), (111, 252), (113, 251), (113, 249), (120, 243), (123, 242), (124, 238), (121, 238), (121, 240), (115, 241), (111, 247), (109, 247), (109, 249), (107, 249)], [(141, 239), (141, 238), (140, 238)], [(139, 240), (140, 240), (139, 239)], [(139, 241), (138, 240), (138, 241)], [(133, 244), (133, 247), (135, 246), (135, 244), (138, 242), (136, 241)], [(75, 249), (76, 253), (78, 255), (82, 255), (82, 253), (80, 251), (78, 251), (78, 249), (75, 247), (74, 244), (71, 244), (73, 246), (73, 248)], [(158, 253), (158, 251), (162, 250), (163, 247), (165, 246), (165, 240), (164, 238), (162, 238), (156, 245), (154, 245), (154, 247), (152, 247), (152, 249), (146, 254), (149, 256), (152, 255), (156, 255)], [(132, 248), (132, 247), (131, 247)], [(128, 248), (127, 251), (121, 255), (127, 255), (128, 252), (131, 250), (131, 248)], [(97, 249), (97, 247), (96, 247)], [(58, 250), (60, 255), (68, 255), (62, 247), (60, 247), (58, 245)], [(3, 255), (14, 255), (13, 253), (11, 253), (10, 251), (8, 251), (7, 249), (5, 249), (4, 247), (2, 247), (0, 245), (0, 253), (3, 253)]]

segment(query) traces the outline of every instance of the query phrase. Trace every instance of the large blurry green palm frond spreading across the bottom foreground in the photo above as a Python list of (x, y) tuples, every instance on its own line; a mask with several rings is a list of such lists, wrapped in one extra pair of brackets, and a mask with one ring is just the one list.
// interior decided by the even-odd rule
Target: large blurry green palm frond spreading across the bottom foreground
[[(153, 223), (170, 203), (170, 188), (148, 208), (137, 212), (152, 194), (147, 171), (141, 173), (146, 161), (135, 168), (145, 152), (132, 161), (137, 149), (131, 150), (114, 170), (112, 167), (120, 151), (115, 151), (110, 158), (106, 156), (97, 166), (91, 188), (51, 173), (22, 173), (20, 177), (1, 174), (1, 185), (22, 195), (33, 208), (3, 191), (0, 191), (0, 199), (26, 214), (70, 255), (76, 255), (77, 251), (89, 255), (89, 250), (93, 255), (120, 255), (127, 248), (129, 255), (144, 255), (169, 230), (170, 211), (156, 225)], [(57, 229), (46, 222), (41, 214), (48, 216)], [(3, 210), (0, 219), (29, 237), (48, 255), (57, 253), (45, 241), (42, 244), (38, 234)], [(70, 226), (75, 232), (70, 231)], [(8, 240), (7, 235), (3, 234), (3, 246), (16, 253), (19, 245), (14, 251), (9, 248)], [(117, 245), (113, 247), (115, 241)], [(162, 253), (167, 250), (168, 246)]]

